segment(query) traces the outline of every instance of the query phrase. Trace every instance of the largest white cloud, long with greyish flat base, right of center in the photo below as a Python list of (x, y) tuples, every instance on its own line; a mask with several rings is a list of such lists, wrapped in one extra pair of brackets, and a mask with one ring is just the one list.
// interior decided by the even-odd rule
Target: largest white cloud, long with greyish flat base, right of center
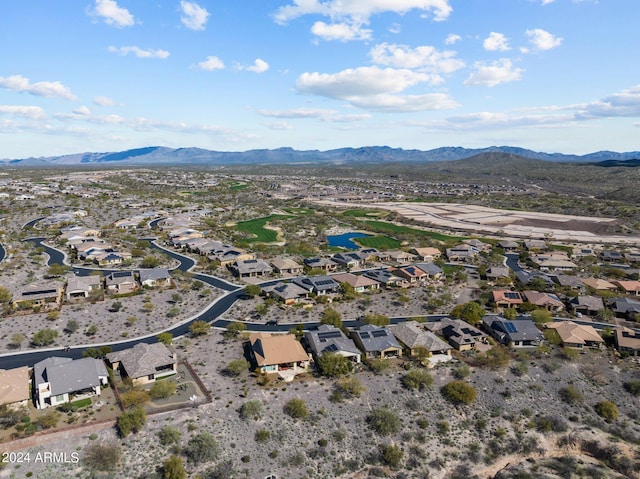
[(458, 106), (446, 94), (398, 95), (431, 75), (408, 69), (359, 67), (334, 74), (303, 73), (296, 81), (302, 93), (343, 100), (375, 111), (422, 111)]

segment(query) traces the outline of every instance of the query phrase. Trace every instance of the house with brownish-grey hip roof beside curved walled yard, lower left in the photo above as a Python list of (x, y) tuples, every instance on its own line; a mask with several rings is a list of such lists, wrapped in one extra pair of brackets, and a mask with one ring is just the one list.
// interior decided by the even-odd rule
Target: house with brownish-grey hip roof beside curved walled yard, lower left
[(133, 384), (147, 384), (171, 376), (178, 370), (174, 351), (163, 343), (138, 343), (129, 349), (107, 353), (111, 368), (128, 377)]

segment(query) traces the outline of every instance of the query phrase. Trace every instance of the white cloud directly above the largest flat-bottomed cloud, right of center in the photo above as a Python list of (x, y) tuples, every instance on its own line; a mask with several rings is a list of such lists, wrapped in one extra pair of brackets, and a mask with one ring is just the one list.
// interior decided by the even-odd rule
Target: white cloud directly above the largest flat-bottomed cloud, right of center
[[(464, 68), (464, 62), (455, 58), (456, 52), (438, 51), (428, 45), (409, 48), (406, 45), (381, 43), (369, 52), (374, 63), (395, 68), (416, 68), (429, 73), (452, 73)], [(432, 78), (432, 83), (433, 83)]]

